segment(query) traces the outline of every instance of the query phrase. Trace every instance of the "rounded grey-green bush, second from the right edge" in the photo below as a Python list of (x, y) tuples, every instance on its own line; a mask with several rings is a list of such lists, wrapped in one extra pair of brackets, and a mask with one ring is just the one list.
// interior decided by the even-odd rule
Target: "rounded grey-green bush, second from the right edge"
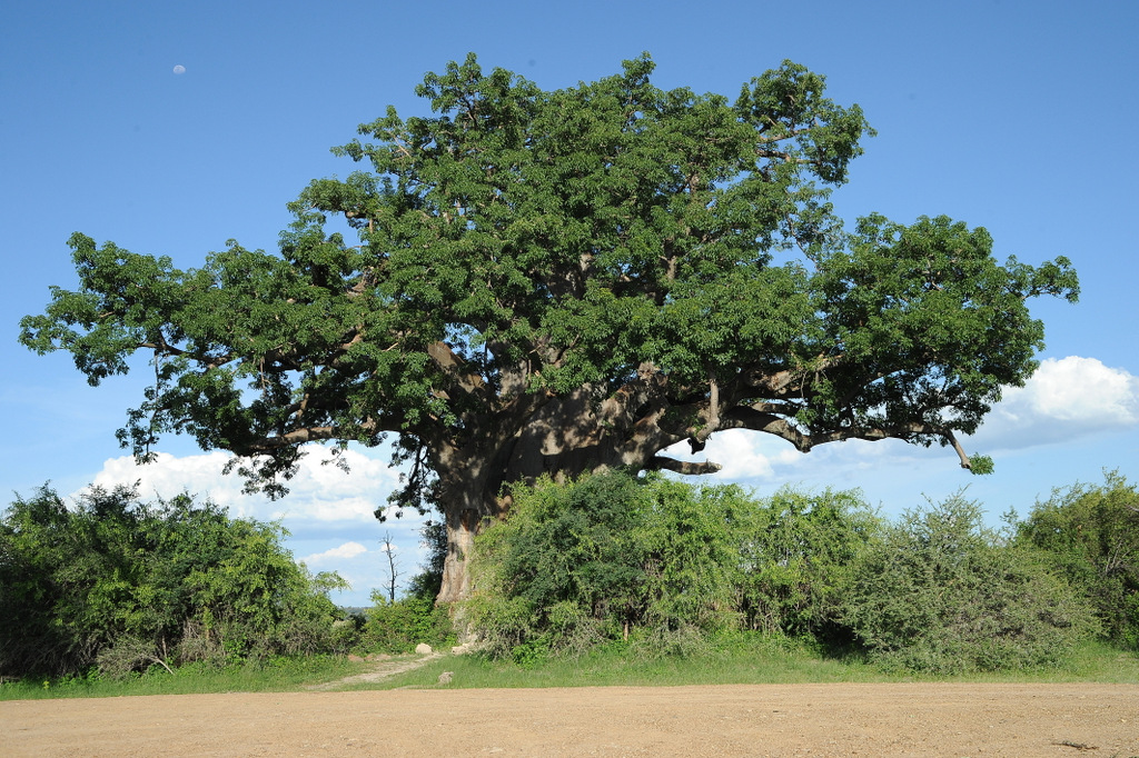
[(1034, 553), (1002, 544), (961, 495), (887, 526), (852, 579), (844, 621), (886, 667), (1044, 666), (1095, 628), (1085, 601)]

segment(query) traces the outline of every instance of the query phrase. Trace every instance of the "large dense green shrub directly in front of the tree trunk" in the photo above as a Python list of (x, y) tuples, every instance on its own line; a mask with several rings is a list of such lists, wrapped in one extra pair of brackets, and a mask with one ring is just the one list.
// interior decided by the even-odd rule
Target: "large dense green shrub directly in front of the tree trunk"
[(494, 654), (581, 652), (606, 640), (685, 651), (736, 628), (738, 487), (624, 472), (516, 487), (476, 539), (465, 612)]

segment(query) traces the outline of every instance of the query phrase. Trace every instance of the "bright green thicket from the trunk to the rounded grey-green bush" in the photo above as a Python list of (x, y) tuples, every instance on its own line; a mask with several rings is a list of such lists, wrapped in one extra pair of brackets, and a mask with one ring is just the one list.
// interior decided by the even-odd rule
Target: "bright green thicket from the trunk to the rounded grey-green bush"
[(476, 542), (475, 634), (534, 659), (631, 641), (691, 652), (718, 634), (833, 631), (846, 563), (877, 526), (854, 493), (694, 488), (611, 472), (514, 491)]

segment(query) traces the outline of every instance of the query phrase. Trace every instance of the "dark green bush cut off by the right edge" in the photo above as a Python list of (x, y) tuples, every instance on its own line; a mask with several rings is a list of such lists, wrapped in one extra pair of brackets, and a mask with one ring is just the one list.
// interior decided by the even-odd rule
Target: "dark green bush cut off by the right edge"
[(1089, 598), (1103, 632), (1139, 650), (1139, 489), (1117, 472), (1099, 486), (1057, 489), (1017, 526), (1017, 543), (1044, 551)]

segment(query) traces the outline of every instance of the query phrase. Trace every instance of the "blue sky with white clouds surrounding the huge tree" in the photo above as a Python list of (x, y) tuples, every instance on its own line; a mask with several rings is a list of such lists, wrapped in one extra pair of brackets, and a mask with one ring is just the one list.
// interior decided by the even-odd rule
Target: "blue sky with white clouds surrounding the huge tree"
[(298, 559), (353, 583), (345, 604), (384, 583), (385, 533), (410, 574), (416, 522), (371, 517), (394, 483), (380, 452), (354, 452), (350, 476), (310, 456), (277, 503), (240, 495), (222, 456), (188, 439), (165, 440), (162, 461), (138, 471), (114, 431), (145, 374), (92, 389), (66, 355), (21, 347), (17, 322), (42, 311), (49, 286), (74, 286), (74, 231), (180, 267), (230, 238), (273, 249), (285, 204), (311, 179), (352, 171), (328, 148), (390, 104), (424, 113), (415, 85), (468, 51), (555, 89), (642, 50), (658, 86), (729, 97), (785, 58), (826, 75), (829, 94), (878, 130), (835, 196), (846, 219), (947, 214), (989, 229), (1001, 259), (1067, 255), (1083, 288), (1075, 306), (1033, 304), (1047, 326), (1041, 371), (965, 442), (993, 455), (994, 475), (970, 477), (942, 448), (801, 455), (731, 432), (708, 448), (720, 479), (761, 494), (861, 487), (887, 514), (968, 485), (994, 520), (1105, 468), (1134, 481), (1137, 33), (1139, 3), (1117, 0), (17, 3), (0, 44), (0, 486), (73, 493), (141, 478), (145, 494), (210, 493), (235, 513), (282, 518)]

